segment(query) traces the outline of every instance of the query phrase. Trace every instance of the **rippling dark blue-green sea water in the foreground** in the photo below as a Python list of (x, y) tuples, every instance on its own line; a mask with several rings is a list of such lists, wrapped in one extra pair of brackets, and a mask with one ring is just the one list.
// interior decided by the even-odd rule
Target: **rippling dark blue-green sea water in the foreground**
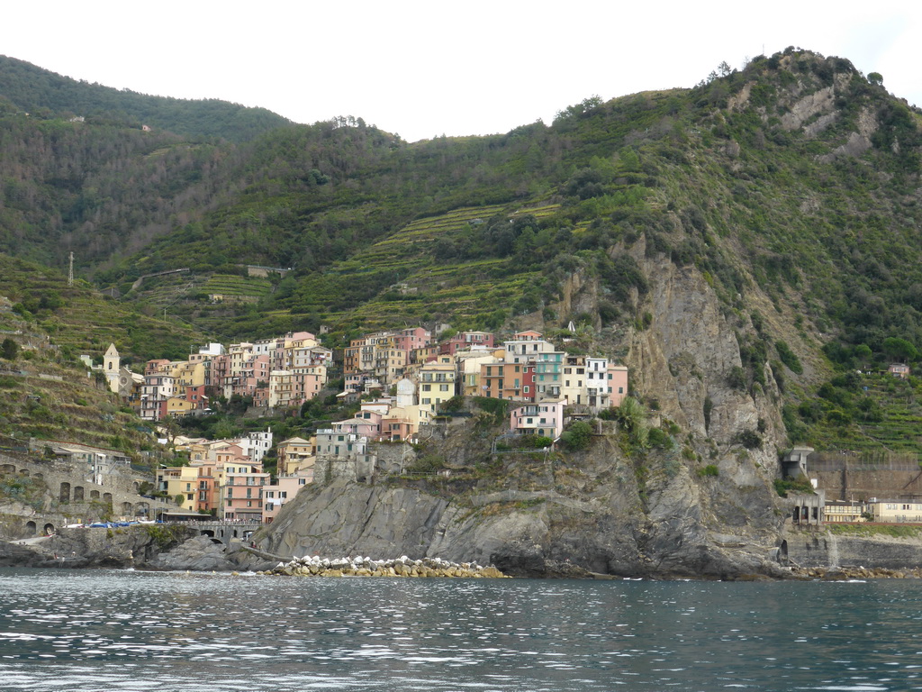
[(922, 584), (0, 569), (0, 690), (922, 689)]

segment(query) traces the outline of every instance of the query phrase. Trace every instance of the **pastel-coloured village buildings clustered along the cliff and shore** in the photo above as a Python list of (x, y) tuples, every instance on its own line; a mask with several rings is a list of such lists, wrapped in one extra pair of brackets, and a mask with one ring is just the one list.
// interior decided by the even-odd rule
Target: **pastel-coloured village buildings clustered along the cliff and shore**
[[(562, 335), (561, 348), (534, 330), (517, 332), (502, 342), (483, 331), (464, 331), (439, 341), (428, 329), (403, 328), (351, 340), (335, 359), (317, 337), (301, 331), (227, 348), (210, 343), (184, 361), (148, 361), (143, 374), (122, 365), (113, 344), (101, 364), (93, 364), (89, 356), (81, 358), (89, 375), (95, 371), (103, 376), (112, 392), (142, 419), (160, 426), (162, 443), (187, 459), (183, 466), (160, 466), (151, 503), (123, 503), (124, 511), (115, 514), (127, 515), (131, 509), (147, 515), (160, 511), (162, 516), (167, 501), (175, 518), (184, 513), (187, 518), (208, 515), (263, 524), (271, 523), (286, 502), (313, 483), (318, 469), (340, 463), (349, 465), (353, 477), (367, 477), (385, 461), (380, 455), (395, 457), (394, 450), (403, 448), (393, 443), (418, 443), (420, 435), (443, 422), (443, 413), (466, 397), (508, 401), (504, 436), (521, 440), (530, 435), (541, 447), (554, 448), (565, 426), (604, 417), (603, 412), (617, 408), (628, 396), (626, 366), (605, 356), (577, 353), (578, 347), (567, 352), (568, 341), (573, 340)], [(219, 440), (169, 431), (175, 429), (169, 425), (172, 420), (209, 415), (217, 399), (245, 400), (253, 412), (266, 416), (298, 410), (322, 392), (329, 396), (331, 371), (342, 374), (343, 390), (336, 400), (358, 409), (353, 417), (326, 423), (307, 438), (275, 441), (271, 428)], [(264, 457), (271, 449), (277, 458), (275, 474), (264, 471)], [(96, 476), (107, 462), (127, 464), (124, 453), (113, 450), (67, 443), (55, 443), (53, 450), (62, 459), (89, 460)], [(811, 452), (810, 447), (795, 447), (786, 454), (784, 476), (810, 477)], [(386, 463), (402, 473), (403, 459), (398, 451)], [(119, 475), (123, 474), (112, 473), (112, 479)], [(790, 495), (794, 524), (922, 521), (922, 503), (876, 497), (827, 501), (822, 486), (814, 483), (814, 489), (815, 494)]]

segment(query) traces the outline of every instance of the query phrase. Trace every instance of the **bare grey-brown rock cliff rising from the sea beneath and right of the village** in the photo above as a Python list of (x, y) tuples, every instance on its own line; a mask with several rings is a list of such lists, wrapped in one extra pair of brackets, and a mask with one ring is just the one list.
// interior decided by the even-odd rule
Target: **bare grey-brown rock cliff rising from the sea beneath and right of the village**
[[(656, 402), (649, 424), (671, 430), (670, 445), (629, 448), (605, 424), (585, 452), (491, 457), (502, 425), (484, 430), (475, 414), (427, 444), (425, 453), (452, 470), (449, 480), (382, 474), (372, 484), (308, 488), (257, 537), (266, 550), (477, 560), (520, 576), (574, 565), (666, 578), (779, 574), (770, 555), (787, 514), (773, 487), (786, 444), (780, 393), (767, 360), (757, 364), (759, 385), (731, 378), (747, 366), (748, 312), (722, 301), (699, 269), (644, 257), (643, 243), (629, 251), (649, 286), (633, 307), (649, 317), (627, 333), (599, 329), (597, 342), (627, 353), (632, 392)], [(574, 277), (561, 310), (597, 304), (600, 293), (596, 281)], [(771, 307), (758, 290), (750, 301)], [(786, 316), (772, 311), (768, 328), (783, 332)]]

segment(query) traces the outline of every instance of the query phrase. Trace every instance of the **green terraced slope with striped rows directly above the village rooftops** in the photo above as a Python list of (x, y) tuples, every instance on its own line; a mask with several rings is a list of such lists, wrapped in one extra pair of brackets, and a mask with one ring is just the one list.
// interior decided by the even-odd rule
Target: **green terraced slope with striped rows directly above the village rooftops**
[[(260, 327), (268, 322), (279, 328), (302, 324), (315, 329), (323, 321), (336, 332), (447, 321), (461, 328), (499, 328), (514, 315), (523, 295), (536, 290), (540, 268), (518, 257), (446, 261), (443, 248), (463, 242), (488, 221), (537, 224), (539, 217), (557, 209), (559, 205), (489, 205), (412, 221), (324, 273), (302, 280), (290, 301), (297, 305), (295, 310), (279, 309), (283, 301), (277, 301), (274, 309), (261, 313)], [(522, 304), (517, 312), (536, 305)], [(202, 317), (195, 320), (202, 322)]]

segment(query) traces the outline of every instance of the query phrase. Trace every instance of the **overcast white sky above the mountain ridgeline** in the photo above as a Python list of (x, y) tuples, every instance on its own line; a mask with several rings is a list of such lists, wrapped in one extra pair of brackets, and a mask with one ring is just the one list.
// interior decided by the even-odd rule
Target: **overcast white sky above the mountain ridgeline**
[(788, 45), (922, 105), (917, 0), (8, 3), (0, 54), (160, 96), (362, 117), (409, 141), (507, 132), (598, 95), (691, 87)]

